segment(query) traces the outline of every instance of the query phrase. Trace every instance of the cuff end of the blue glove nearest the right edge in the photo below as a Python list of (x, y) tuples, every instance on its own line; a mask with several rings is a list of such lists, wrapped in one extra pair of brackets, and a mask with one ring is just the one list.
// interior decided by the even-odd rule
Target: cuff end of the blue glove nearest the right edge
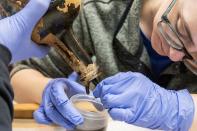
[(179, 108), (179, 118), (178, 127), (179, 131), (188, 131), (192, 125), (194, 118), (194, 102), (192, 96), (189, 94), (188, 90), (177, 91), (178, 97), (178, 108)]

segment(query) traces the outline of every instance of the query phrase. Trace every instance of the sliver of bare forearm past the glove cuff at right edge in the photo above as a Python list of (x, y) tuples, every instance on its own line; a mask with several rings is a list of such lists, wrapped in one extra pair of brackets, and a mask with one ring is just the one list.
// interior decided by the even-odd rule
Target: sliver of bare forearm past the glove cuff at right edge
[(195, 114), (194, 114), (194, 120), (192, 123), (192, 127), (191, 127), (191, 131), (196, 131), (197, 130), (197, 94), (192, 94), (192, 98), (194, 101), (194, 105), (195, 105)]

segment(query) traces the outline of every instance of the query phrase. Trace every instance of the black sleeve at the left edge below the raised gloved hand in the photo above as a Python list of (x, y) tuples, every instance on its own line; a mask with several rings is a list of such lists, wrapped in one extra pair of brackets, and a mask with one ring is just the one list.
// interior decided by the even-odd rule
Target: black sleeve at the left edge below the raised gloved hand
[(2, 131), (12, 130), (14, 96), (8, 71), (10, 60), (9, 50), (0, 44), (0, 130)]

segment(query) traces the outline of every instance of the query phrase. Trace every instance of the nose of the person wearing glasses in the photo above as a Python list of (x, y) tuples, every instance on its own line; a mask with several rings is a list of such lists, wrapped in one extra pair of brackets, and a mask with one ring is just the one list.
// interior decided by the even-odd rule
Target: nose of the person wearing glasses
[(170, 49), (169, 49), (169, 58), (172, 61), (181, 61), (184, 56), (185, 56), (185, 54), (183, 52), (178, 51), (178, 50), (170, 47)]

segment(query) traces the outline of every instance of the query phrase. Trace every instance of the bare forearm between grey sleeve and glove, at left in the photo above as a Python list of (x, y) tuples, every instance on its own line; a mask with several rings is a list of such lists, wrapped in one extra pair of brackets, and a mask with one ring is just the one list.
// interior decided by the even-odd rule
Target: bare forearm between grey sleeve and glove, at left
[(42, 92), (50, 80), (34, 69), (16, 72), (11, 78), (16, 102), (40, 103)]

